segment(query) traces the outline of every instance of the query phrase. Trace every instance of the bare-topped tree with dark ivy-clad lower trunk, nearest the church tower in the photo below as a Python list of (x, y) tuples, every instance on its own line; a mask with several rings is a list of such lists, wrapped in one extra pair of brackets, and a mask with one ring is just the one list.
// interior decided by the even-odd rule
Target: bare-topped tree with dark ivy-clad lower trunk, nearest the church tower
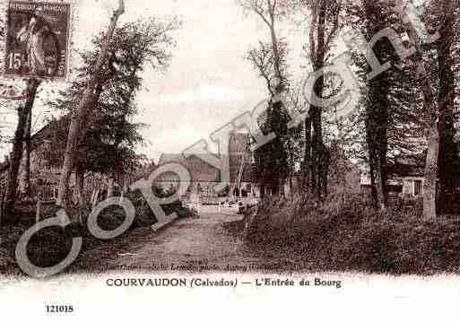
[(287, 152), (284, 149), (287, 135), (288, 118), (282, 101), (283, 91), (287, 87), (285, 68), (286, 46), (277, 34), (276, 22), (283, 16), (284, 3), (279, 0), (238, 0), (239, 4), (252, 13), (256, 13), (269, 30), (269, 44), (260, 42), (259, 48), (249, 52), (247, 59), (265, 78), (271, 100), (265, 113), (265, 130), (276, 137), (255, 152), (257, 178), (264, 195), (265, 186), (274, 194), (280, 192), (286, 178)]

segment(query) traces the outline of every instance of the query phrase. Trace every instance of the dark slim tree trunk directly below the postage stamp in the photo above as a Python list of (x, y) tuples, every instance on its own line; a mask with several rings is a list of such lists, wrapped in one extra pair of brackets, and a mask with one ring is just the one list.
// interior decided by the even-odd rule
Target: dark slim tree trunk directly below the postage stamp
[(14, 133), (13, 139), (13, 156), (10, 160), (10, 169), (8, 171), (8, 183), (6, 186), (6, 193), (4, 196), (4, 213), (13, 213), (14, 204), (16, 202), (17, 187), (18, 187), (18, 172), (22, 160), (23, 139), (24, 132), (27, 124), (27, 116), (31, 113), (37, 89), (39, 88), (40, 81), (37, 79), (30, 79), (27, 81), (26, 88), (26, 101), (22, 109), (19, 111), (18, 126)]

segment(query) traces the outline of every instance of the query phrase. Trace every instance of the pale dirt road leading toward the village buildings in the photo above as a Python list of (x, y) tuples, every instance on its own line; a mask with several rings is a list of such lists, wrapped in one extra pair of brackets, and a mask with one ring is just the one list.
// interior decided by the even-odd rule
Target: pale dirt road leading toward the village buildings
[(118, 245), (106, 246), (107, 251), (94, 249), (82, 261), (88, 271), (104, 266), (158, 271), (227, 271), (230, 266), (233, 271), (237, 266), (266, 264), (224, 227), (241, 218), (234, 211), (219, 214), (216, 207), (203, 207), (200, 218), (179, 220), (157, 232), (134, 231)]

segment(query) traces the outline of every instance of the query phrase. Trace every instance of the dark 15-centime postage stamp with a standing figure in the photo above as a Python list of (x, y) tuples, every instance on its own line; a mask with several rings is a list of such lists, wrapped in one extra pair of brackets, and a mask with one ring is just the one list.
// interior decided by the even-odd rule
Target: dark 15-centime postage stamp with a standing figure
[(7, 9), (4, 74), (65, 79), (70, 4), (11, 1)]

